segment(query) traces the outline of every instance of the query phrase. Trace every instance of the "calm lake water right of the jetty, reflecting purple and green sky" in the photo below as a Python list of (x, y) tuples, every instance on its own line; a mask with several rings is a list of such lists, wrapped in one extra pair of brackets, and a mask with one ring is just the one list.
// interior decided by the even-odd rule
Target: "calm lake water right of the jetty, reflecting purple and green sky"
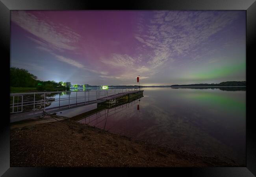
[(143, 88), (143, 97), (83, 118), (86, 123), (135, 140), (245, 165), (246, 91)]

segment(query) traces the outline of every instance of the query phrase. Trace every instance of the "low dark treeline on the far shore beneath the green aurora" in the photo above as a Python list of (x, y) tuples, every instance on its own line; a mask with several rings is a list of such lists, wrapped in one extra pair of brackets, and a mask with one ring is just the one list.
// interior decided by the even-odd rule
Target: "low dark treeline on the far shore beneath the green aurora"
[(221, 83), (211, 84), (187, 84), (187, 85), (171, 85), (171, 87), (230, 87), (230, 86), (246, 86), (246, 81), (226, 81)]

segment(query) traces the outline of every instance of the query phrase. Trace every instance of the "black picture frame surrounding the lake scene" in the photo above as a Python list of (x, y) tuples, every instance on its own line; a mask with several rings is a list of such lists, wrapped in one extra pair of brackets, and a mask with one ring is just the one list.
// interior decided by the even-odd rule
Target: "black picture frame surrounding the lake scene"
[[(230, 176), (230, 177), (250, 177), (256, 176), (256, 130), (254, 128), (255, 116), (250, 116), (249, 110), (252, 110), (252, 104), (249, 101), (253, 99), (252, 89), (249, 89), (250, 79), (249, 68), (253, 67), (252, 62), (255, 59), (255, 31), (256, 31), (256, 2), (255, 0), (136, 0), (136, 1), (84, 1), (84, 0), (0, 0), (0, 39), (3, 52), (2, 62), (6, 61), (6, 71), (2, 70), (2, 79), (4, 83), (9, 83), (9, 61), (10, 58), (10, 10), (87, 10), (87, 9), (127, 9), (127, 10), (245, 10), (247, 14), (247, 34), (246, 34), (246, 76), (247, 76), (247, 94), (246, 94), (246, 132), (247, 132), (247, 162), (246, 167), (234, 168), (158, 168), (167, 174), (179, 174), (189, 176)], [(5, 54), (5, 55), (3, 55)], [(6, 77), (7, 76), (7, 77)], [(9, 87), (4, 88), (6, 100), (9, 100)], [(249, 90), (249, 92), (248, 92)], [(76, 176), (88, 174), (88, 170), (93, 170), (94, 175), (98, 173), (95, 168), (10, 168), (10, 142), (9, 142), (9, 107), (4, 102), (3, 112), (6, 116), (1, 117), (0, 134), (0, 175), (2, 176), (52, 176), (54, 174), (64, 173)], [(118, 170), (130, 170), (134, 168), (119, 168)], [(142, 168), (145, 172), (151, 173), (155, 168)], [(101, 168), (104, 172), (109, 172), (110, 168)], [(115, 169), (117, 170), (117, 169)], [(86, 173), (83, 173), (85, 172)], [(111, 171), (112, 172), (112, 171)], [(113, 171), (114, 172), (114, 171)], [(112, 174), (111, 174), (112, 175)], [(119, 174), (120, 175), (120, 174)]]

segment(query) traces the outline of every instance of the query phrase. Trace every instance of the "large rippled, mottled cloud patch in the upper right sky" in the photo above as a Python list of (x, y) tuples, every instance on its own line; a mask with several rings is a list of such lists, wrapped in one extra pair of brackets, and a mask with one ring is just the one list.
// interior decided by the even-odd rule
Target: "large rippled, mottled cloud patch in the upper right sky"
[(213, 40), (211, 36), (237, 17), (236, 11), (155, 11), (148, 26), (139, 21), (138, 26), (143, 29), (134, 38), (141, 43), (142, 51), (152, 51), (153, 57), (148, 60), (150, 68), (172, 63), (180, 57), (195, 61), (215, 52), (207, 45)]

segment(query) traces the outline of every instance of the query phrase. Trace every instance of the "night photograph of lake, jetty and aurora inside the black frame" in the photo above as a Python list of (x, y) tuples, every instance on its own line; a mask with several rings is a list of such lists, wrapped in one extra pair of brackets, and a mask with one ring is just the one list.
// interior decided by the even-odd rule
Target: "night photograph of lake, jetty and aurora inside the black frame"
[(10, 10), (10, 167), (246, 167), (245, 10)]

